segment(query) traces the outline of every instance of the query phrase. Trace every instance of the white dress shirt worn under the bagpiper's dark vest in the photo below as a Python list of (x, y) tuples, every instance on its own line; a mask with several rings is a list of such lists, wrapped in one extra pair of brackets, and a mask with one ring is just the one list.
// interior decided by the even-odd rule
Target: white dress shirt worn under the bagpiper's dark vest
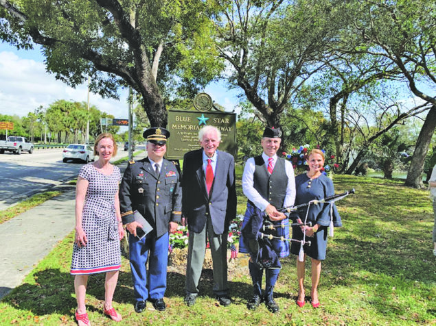
[[(268, 158), (269, 156), (262, 153), (262, 158), (264, 159), (265, 166), (268, 168)], [(277, 155), (273, 156), (274, 166), (277, 162)], [(254, 205), (260, 210), (264, 211), (269, 202), (262, 198), (259, 192), (254, 188), (253, 175), (255, 171), (254, 158), (249, 158), (244, 167), (244, 173), (242, 174), (242, 191), (246, 198), (248, 198)], [(284, 207), (294, 205), (295, 202), (295, 175), (294, 168), (288, 160), (285, 160), (285, 172), (288, 177), (288, 186), (286, 186), (286, 194), (284, 199)], [(278, 207), (277, 207), (278, 208)]]

